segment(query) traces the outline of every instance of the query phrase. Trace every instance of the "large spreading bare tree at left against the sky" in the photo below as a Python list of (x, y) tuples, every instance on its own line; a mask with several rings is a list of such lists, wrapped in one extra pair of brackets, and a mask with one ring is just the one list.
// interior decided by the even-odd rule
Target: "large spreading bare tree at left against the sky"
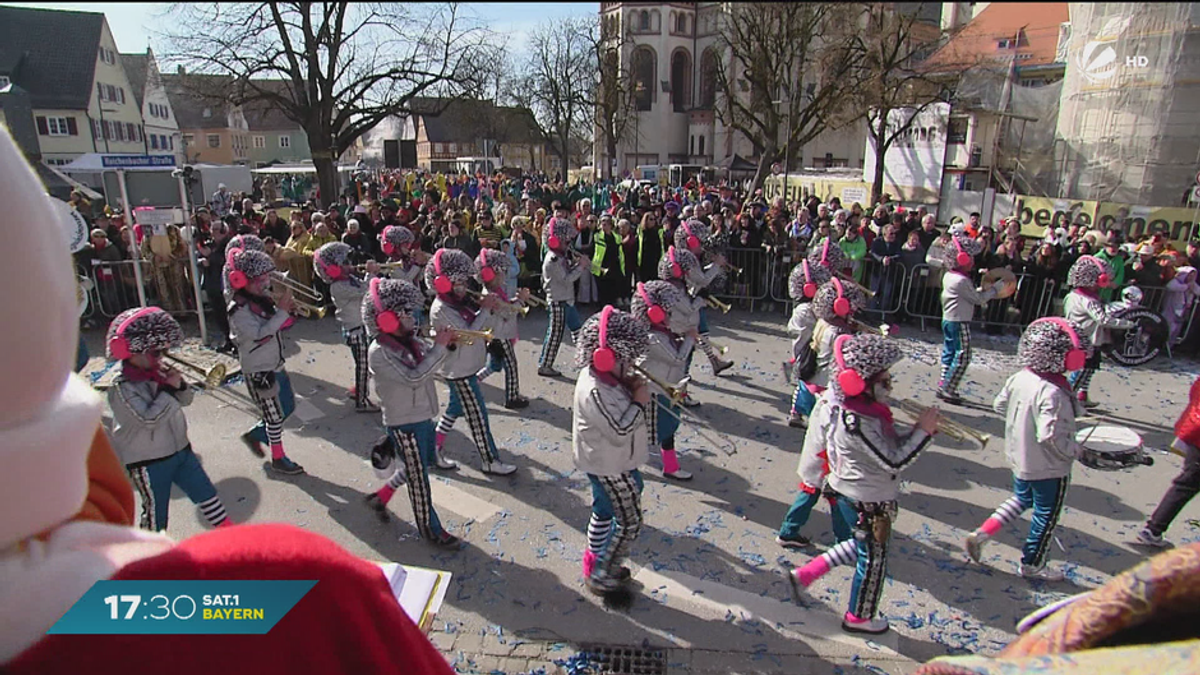
[(230, 101), (269, 103), (304, 129), (326, 204), (355, 139), (415, 97), (480, 90), (493, 50), (454, 2), (180, 2), (166, 23), (166, 60), (229, 76)]

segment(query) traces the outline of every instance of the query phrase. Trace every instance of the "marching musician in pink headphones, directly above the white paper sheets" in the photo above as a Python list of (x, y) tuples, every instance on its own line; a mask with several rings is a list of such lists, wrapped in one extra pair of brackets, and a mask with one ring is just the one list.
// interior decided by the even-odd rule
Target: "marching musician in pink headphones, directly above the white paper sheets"
[(366, 503), (380, 520), (389, 520), (388, 502), (407, 482), (421, 537), (438, 548), (456, 550), (458, 538), (442, 527), (433, 509), (428, 473), (430, 465), (437, 461), (433, 417), (438, 412), (438, 392), (433, 375), (445, 360), (455, 334), (440, 330), (432, 344), (419, 339), (414, 312), (424, 304), (424, 294), (408, 281), (367, 281), (360, 306), (365, 330), (372, 339), (367, 360), (383, 406), (383, 424), (391, 446), (400, 450), (400, 464), (383, 488), (366, 496)]

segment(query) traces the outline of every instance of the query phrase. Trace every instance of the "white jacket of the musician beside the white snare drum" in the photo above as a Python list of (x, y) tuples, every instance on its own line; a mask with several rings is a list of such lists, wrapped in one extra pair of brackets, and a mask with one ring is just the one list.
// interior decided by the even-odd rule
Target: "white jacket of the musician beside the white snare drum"
[(1070, 476), (1084, 448), (1075, 442), (1079, 402), (1060, 384), (1031, 370), (1004, 382), (992, 408), (1004, 416), (1004, 453), (1021, 480)]

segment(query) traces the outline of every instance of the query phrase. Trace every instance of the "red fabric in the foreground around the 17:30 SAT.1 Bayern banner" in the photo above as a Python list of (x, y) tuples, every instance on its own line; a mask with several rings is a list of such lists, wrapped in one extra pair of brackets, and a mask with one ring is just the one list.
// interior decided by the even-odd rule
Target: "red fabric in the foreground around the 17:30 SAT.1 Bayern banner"
[(114, 579), (317, 579), (317, 585), (265, 635), (48, 635), (5, 673), (454, 673), (400, 608), (377, 566), (290, 525), (197, 534), (126, 566)]

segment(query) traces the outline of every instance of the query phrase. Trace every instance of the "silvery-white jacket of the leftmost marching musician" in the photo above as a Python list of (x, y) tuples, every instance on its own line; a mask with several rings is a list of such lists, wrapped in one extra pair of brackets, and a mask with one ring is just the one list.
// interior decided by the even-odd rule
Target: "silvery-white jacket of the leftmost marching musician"
[(169, 458), (187, 447), (187, 417), (192, 389), (172, 392), (157, 382), (118, 378), (108, 389), (113, 410), (113, 449), (126, 466)]

